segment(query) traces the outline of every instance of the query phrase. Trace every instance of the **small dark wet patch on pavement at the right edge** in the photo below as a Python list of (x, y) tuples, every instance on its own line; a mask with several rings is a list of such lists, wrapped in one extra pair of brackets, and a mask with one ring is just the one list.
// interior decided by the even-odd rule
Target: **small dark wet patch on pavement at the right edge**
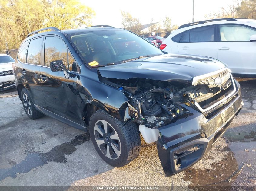
[(250, 141), (256, 141), (256, 132), (255, 131), (251, 131), (250, 133), (225, 132), (224, 137), (227, 137), (232, 142), (250, 142)]

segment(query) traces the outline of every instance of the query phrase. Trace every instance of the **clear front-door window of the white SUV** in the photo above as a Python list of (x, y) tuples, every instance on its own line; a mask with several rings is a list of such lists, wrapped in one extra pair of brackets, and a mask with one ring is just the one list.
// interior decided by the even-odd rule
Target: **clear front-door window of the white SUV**
[(241, 25), (220, 25), (221, 41), (250, 41), (256, 30)]

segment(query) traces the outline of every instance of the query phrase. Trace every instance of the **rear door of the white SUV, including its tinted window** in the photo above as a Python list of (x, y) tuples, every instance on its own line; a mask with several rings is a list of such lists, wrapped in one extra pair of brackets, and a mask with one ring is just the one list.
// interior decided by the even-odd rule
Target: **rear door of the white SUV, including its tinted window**
[(217, 58), (215, 31), (216, 27), (210, 25), (183, 32), (180, 43), (178, 43), (179, 53)]

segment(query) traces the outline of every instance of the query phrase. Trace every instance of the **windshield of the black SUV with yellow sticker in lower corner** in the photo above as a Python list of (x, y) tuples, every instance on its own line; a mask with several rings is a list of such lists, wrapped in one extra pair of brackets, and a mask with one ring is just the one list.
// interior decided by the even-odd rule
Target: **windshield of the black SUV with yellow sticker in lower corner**
[(72, 43), (91, 66), (121, 63), (163, 52), (127, 30), (101, 30), (70, 35)]

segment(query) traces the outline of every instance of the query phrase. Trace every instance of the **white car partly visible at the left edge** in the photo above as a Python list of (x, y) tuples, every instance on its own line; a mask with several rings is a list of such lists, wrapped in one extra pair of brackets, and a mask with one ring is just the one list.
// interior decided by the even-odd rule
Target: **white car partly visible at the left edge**
[(0, 91), (15, 87), (15, 76), (11, 65), (14, 62), (11, 56), (0, 54)]

